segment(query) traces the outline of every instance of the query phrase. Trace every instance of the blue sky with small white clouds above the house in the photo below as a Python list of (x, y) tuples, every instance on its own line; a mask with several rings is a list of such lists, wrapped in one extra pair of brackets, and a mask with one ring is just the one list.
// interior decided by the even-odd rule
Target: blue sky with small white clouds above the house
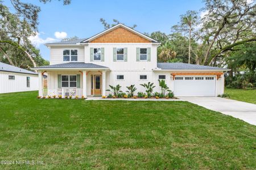
[[(31, 41), (40, 49), (43, 58), (49, 60), (46, 42), (59, 41), (61, 37), (90, 37), (104, 30), (100, 18), (111, 22), (118, 19), (126, 25), (137, 24), (139, 32), (162, 31), (170, 33), (172, 25), (179, 22), (179, 16), (187, 10), (200, 10), (201, 0), (72, 0), (71, 5), (63, 6), (62, 1), (52, 0), (43, 4), (39, 0), (31, 2), (41, 7), (38, 35)], [(4, 0), (11, 6), (10, 0)]]

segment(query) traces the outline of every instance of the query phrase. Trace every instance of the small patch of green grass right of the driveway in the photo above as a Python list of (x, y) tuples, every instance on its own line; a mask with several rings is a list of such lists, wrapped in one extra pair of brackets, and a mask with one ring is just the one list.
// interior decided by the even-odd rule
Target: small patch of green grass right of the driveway
[(225, 88), (225, 94), (229, 94), (230, 99), (256, 104), (256, 90)]

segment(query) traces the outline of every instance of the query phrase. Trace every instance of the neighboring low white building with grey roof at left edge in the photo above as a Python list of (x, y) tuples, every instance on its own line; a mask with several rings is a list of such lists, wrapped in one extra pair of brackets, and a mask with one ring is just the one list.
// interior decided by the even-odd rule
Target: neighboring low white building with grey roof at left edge
[(38, 74), (0, 62), (0, 94), (38, 90)]

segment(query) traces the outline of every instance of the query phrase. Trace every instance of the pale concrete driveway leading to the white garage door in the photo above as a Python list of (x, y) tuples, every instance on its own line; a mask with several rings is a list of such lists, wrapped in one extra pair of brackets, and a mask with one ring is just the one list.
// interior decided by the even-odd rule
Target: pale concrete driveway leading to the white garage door
[(239, 118), (256, 125), (256, 104), (225, 99), (221, 97), (179, 97), (181, 100), (200, 105), (207, 109)]

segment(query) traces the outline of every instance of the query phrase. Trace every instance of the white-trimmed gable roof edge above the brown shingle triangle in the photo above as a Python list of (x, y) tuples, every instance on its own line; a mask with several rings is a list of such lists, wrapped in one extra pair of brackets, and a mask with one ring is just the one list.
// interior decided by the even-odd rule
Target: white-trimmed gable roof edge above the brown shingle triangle
[(100, 37), (100, 36), (102, 36), (102, 35), (105, 35), (106, 33), (110, 32), (110, 31), (113, 31), (114, 29), (119, 28), (119, 27), (125, 28), (125, 29), (127, 29), (128, 31), (133, 32), (133, 33), (135, 33), (136, 35), (141, 36), (141, 37), (143, 37), (144, 39), (147, 39), (147, 40), (149, 40), (149, 41), (151, 41), (151, 42), (156, 42), (156, 43), (158, 43), (158, 41), (156, 41), (156, 40), (154, 40), (154, 39), (151, 39), (150, 37), (144, 35), (143, 33), (138, 32), (138, 31), (135, 31), (134, 29), (131, 29), (130, 27), (127, 27), (127, 26), (124, 25), (124, 24), (117, 24), (117, 25), (114, 25), (113, 27), (111, 27), (111, 28), (109, 28), (109, 29), (106, 29), (105, 31), (102, 31), (102, 32), (100, 32), (100, 33), (97, 33), (96, 35), (94, 35), (94, 36), (92, 36), (92, 37), (89, 37), (88, 39), (85, 39), (85, 40), (81, 41), (81, 43), (90, 42), (90, 41), (96, 39), (97, 37)]

